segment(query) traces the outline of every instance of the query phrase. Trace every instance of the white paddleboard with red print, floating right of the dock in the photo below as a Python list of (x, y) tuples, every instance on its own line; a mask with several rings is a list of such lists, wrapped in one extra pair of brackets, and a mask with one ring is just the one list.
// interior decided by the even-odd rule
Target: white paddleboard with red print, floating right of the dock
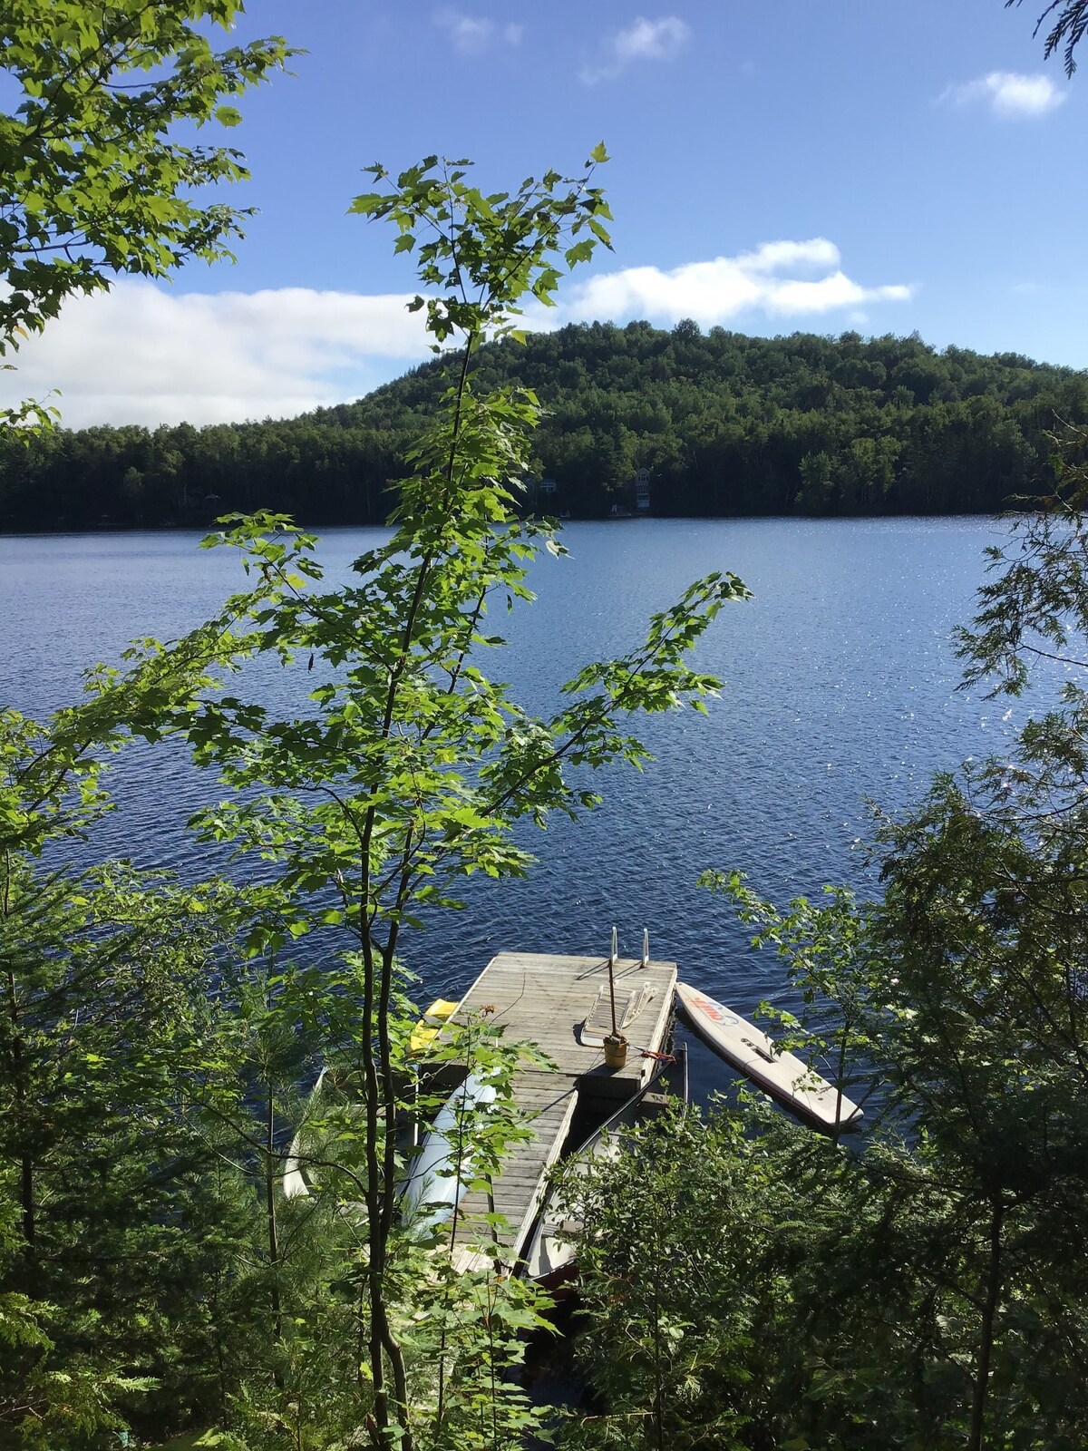
[(699, 1037), (783, 1109), (818, 1129), (841, 1132), (857, 1126), (857, 1104), (808, 1064), (778, 1048), (754, 1023), (685, 982), (676, 984), (676, 998)]

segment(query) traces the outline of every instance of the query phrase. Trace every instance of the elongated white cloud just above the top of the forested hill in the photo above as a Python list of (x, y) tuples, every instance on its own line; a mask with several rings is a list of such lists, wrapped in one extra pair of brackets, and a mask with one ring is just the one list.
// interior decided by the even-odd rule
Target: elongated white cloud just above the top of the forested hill
[[(796, 276), (798, 273), (808, 276)], [(823, 276), (812, 277), (812, 273)], [(905, 302), (904, 283), (866, 287), (840, 267), (834, 242), (765, 242), (737, 257), (685, 263), (672, 271), (627, 267), (590, 277), (567, 290), (563, 321), (577, 318), (648, 318), (677, 322), (693, 318), (704, 326), (731, 322), (746, 312), (772, 318), (811, 318), (873, 302)]]

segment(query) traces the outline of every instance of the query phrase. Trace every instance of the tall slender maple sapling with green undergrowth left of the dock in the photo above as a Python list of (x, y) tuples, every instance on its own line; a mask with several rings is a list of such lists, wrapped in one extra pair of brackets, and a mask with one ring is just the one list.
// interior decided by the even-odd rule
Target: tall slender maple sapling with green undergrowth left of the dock
[[(724, 604), (747, 598), (728, 573), (693, 583), (638, 647), (579, 670), (547, 717), (483, 672), (505, 644), (490, 612), (531, 601), (535, 550), (563, 547), (516, 509), (538, 400), (479, 392), (473, 363), (527, 292), (545, 300), (560, 266), (606, 241), (590, 184), (602, 160), (596, 148), (582, 177), (548, 173), (486, 196), (461, 163), (429, 158), (396, 180), (374, 168), (382, 190), (357, 210), (416, 238), (422, 280), (444, 287), (428, 311), (437, 345), (463, 334), (451, 386), (408, 456), (392, 538), (329, 588), (313, 540), (287, 518), (226, 518), (206, 544), (242, 550), (248, 586), (218, 615), (170, 644), (138, 641), (48, 726), (3, 721), (4, 1066), (20, 1104), (4, 1152), (22, 1185), (12, 1287), (30, 1300), (57, 1291), (62, 1374), (99, 1348), (96, 1429), (193, 1419), (252, 1451), (361, 1435), (411, 1451), (495, 1448), (538, 1426), (511, 1371), (543, 1302), (511, 1277), (500, 1216), (421, 1223), (397, 1201), (412, 1116), (435, 1111), (466, 1066), (502, 1104), (527, 1049), (474, 1022), (421, 1065), (400, 953), (425, 911), (460, 905), (466, 876), (528, 869), (519, 821), (596, 804), (567, 766), (641, 763), (634, 712), (717, 691), (688, 654)], [(284, 673), (292, 711), (267, 705), (254, 663)], [(107, 810), (104, 757), (165, 736), (229, 791), (194, 827), (235, 847), (239, 885), (181, 891), (113, 868), (80, 895), (64, 876), (33, 875), (28, 856)], [(319, 968), (280, 961), (303, 934)], [(80, 1016), (81, 994), (97, 1014)], [(48, 1071), (32, 1071), (39, 1059)], [(300, 1094), (319, 1065), (319, 1088)], [(71, 1093), (58, 1088), (65, 1075)], [(42, 1139), (45, 1125), (65, 1132)], [(500, 1106), (466, 1110), (458, 1129), (451, 1172), (487, 1190), (525, 1127)], [(103, 1180), (84, 1199), (83, 1162)], [(308, 1193), (284, 1196), (289, 1165)], [(45, 1274), (38, 1184), (49, 1175), (71, 1180), (61, 1223), (80, 1230), (70, 1244), (58, 1229), (57, 1244), (97, 1255), (83, 1296)], [(148, 1274), (104, 1286), (118, 1236)], [(463, 1249), (467, 1273), (454, 1273)], [(147, 1374), (110, 1378), (132, 1365)], [(25, 1360), (13, 1367), (16, 1387), (30, 1378)], [(141, 1402), (152, 1389), (155, 1410)]]

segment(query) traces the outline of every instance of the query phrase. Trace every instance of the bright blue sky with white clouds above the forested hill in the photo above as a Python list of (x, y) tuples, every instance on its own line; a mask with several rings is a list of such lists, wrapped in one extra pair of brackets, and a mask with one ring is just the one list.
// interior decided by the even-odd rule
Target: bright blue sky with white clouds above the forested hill
[[(345, 215), (426, 152), (492, 190), (603, 139), (614, 254), (559, 321), (911, 332), (1088, 366), (1084, 77), (1043, 0), (252, 0), (239, 33), (308, 54), (228, 139), (255, 206), (234, 267), (122, 283), (23, 350), (7, 395), (64, 419), (210, 422), (358, 396), (426, 355), (413, 274)], [(1088, 62), (1088, 42), (1085, 42)]]

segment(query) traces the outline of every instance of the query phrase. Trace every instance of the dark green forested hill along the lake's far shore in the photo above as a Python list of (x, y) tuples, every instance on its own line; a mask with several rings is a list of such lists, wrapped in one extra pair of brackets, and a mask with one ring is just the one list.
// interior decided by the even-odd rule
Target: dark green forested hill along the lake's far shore
[[(0, 440), (0, 528), (205, 524), (255, 508), (382, 521), (448, 367), (280, 422)], [(1058, 419), (1088, 422), (1088, 373), (937, 353), (917, 335), (576, 325), (489, 345), (476, 386), (500, 382), (547, 403), (538, 473), (556, 489), (540, 502), (574, 518), (630, 506), (638, 469), (664, 515), (988, 512), (1046, 485)]]

